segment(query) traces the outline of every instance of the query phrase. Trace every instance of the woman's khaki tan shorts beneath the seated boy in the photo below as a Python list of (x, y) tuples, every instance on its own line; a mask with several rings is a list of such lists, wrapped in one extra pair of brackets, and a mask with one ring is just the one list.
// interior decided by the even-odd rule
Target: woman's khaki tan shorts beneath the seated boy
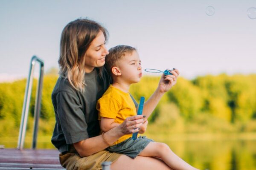
[(67, 170), (102, 170), (102, 162), (116, 161), (121, 154), (110, 153), (107, 150), (99, 151), (87, 157), (80, 157), (78, 153), (60, 154), (61, 166)]

